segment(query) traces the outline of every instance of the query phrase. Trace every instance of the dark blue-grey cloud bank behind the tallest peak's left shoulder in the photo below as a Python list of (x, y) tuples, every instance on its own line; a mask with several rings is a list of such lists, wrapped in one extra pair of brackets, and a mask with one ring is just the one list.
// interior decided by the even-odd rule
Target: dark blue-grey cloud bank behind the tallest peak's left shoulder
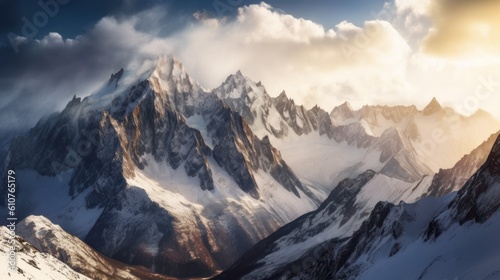
[(155, 9), (123, 20), (104, 17), (73, 39), (54, 32), (40, 40), (19, 37), (18, 54), (0, 46), (0, 130), (33, 126), (73, 95), (89, 95), (118, 69), (170, 52), (165, 39), (137, 28), (161, 16)]

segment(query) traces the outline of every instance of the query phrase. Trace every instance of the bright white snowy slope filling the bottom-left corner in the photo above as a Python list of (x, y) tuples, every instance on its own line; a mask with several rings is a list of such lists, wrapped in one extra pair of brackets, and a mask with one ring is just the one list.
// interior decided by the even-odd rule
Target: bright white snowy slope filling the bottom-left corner
[(24, 239), (16, 236), (14, 246), (16, 248), (16, 271), (10, 271), (9, 263), (10, 231), (6, 227), (0, 227), (0, 278), (2, 279), (91, 279), (72, 270), (69, 266), (49, 254), (40, 252)]

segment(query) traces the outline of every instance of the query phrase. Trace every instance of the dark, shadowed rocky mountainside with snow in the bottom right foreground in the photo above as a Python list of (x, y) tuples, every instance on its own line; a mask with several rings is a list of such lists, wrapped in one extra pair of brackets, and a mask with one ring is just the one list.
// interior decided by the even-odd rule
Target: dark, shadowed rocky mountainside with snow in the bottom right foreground
[[(372, 176), (367, 172), (344, 181), (346, 194), (335, 197), (346, 201)], [(497, 279), (499, 194), (500, 137), (484, 165), (458, 193), (425, 197), (413, 204), (379, 202), (350, 237), (330, 235), (307, 250), (283, 250), (280, 241), (288, 241), (289, 248), (301, 245), (290, 239), (301, 225), (309, 223), (314, 229), (321, 225), (318, 221), (327, 226), (336, 223), (321, 220), (335, 205), (327, 202), (280, 229), (280, 235), (258, 243), (217, 279)], [(316, 241), (306, 237), (302, 245), (311, 239)], [(280, 251), (286, 261), (270, 258)], [(295, 253), (299, 256), (290, 259)]]

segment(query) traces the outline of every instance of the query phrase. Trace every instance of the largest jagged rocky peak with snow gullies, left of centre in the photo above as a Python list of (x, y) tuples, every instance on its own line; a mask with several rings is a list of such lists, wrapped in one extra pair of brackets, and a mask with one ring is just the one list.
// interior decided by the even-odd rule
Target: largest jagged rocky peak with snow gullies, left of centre
[(6, 160), (20, 218), (43, 215), (108, 257), (177, 277), (212, 275), (320, 203), (172, 57), (74, 97)]

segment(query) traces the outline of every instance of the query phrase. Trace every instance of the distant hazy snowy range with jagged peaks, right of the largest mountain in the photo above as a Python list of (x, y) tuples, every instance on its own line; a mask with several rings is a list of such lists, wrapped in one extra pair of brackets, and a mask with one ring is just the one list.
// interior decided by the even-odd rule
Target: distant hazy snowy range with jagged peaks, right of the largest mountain
[(269, 135), (302, 181), (320, 189), (323, 197), (340, 180), (367, 169), (416, 182), (440, 168), (451, 168), (500, 127), (484, 111), (464, 117), (436, 99), (423, 110), (415, 106), (353, 110), (347, 102), (330, 114), (318, 106), (307, 110), (285, 92), (271, 97), (260, 82), (239, 71), (213, 92), (259, 137)]

